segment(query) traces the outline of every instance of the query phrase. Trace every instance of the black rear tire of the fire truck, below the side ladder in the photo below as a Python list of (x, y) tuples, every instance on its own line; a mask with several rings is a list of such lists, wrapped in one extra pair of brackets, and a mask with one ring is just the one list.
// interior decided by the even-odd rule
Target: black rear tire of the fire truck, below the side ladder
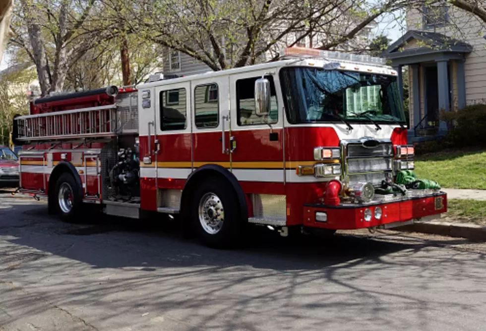
[[(69, 191), (66, 192), (66, 189), (70, 190), (70, 206), (66, 206), (65, 204), (63, 206), (60, 199), (60, 194), (62, 195), (61, 190), (69, 195)], [(82, 221), (81, 207), (83, 197), (79, 195), (79, 187), (71, 174), (64, 172), (59, 176), (52, 199), (56, 212), (62, 221), (67, 223), (78, 223)]]

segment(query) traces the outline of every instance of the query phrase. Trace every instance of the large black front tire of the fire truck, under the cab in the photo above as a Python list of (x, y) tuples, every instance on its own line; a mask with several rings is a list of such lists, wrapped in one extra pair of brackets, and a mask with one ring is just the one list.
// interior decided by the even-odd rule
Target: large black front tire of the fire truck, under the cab
[[(213, 195), (210, 195), (210, 193)], [(208, 201), (207, 199), (209, 199), (208, 204), (217, 203), (214, 206), (217, 213), (223, 212), (223, 221), (216, 233), (208, 232), (203, 225), (204, 221), (201, 221), (199, 216), (199, 207), (200, 205), (207, 206), (203, 203)], [(219, 207), (222, 207), (221, 210), (218, 209)], [(242, 243), (243, 231), (247, 223), (247, 220), (243, 220), (241, 208), (238, 196), (227, 180), (221, 177), (206, 178), (196, 186), (192, 194), (190, 201), (191, 227), (198, 238), (209, 247), (231, 248), (239, 246)], [(212, 213), (212, 215), (215, 215), (214, 212)], [(208, 211), (208, 214), (202, 214), (202, 217), (208, 215), (210, 215), (210, 211)], [(206, 228), (208, 227), (211, 229), (211, 226), (206, 223)], [(215, 228), (217, 227), (215, 226)]]

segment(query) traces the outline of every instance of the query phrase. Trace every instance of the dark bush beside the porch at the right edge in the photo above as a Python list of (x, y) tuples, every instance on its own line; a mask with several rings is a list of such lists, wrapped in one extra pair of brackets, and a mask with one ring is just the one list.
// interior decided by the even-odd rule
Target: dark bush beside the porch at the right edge
[(441, 112), (449, 126), (445, 137), (454, 147), (486, 146), (486, 105), (466, 106), (458, 111)]

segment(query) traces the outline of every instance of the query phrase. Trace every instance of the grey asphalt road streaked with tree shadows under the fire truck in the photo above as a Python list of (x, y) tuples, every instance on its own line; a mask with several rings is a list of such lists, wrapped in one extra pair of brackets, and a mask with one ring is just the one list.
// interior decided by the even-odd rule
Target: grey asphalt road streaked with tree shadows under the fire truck
[(0, 191), (0, 330), (485, 330), (485, 245), (364, 231), (213, 250)]

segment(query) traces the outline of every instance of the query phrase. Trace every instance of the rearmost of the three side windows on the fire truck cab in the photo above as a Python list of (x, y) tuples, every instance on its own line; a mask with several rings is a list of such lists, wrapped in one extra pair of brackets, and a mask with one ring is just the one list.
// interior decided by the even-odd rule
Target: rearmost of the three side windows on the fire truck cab
[(160, 129), (183, 130), (187, 127), (184, 88), (160, 92)]

